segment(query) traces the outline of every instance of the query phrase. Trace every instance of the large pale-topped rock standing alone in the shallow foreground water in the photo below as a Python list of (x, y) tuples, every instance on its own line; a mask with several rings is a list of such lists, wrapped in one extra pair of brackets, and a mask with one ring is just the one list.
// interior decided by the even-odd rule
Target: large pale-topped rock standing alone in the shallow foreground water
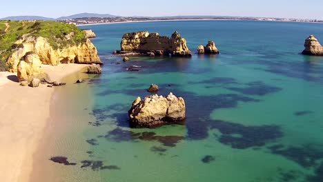
[(138, 97), (128, 111), (133, 128), (154, 128), (170, 123), (180, 123), (186, 118), (185, 101), (170, 93), (167, 97), (157, 94)]

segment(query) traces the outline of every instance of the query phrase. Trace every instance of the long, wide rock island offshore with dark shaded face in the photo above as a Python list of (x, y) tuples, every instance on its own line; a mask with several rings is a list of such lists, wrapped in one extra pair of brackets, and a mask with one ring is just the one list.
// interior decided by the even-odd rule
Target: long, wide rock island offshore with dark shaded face
[(160, 36), (158, 33), (133, 32), (124, 34), (121, 40), (121, 51), (119, 54), (139, 53), (151, 55), (168, 55), (174, 57), (190, 57), (192, 52), (186, 45), (186, 40), (179, 32), (174, 32), (172, 36)]

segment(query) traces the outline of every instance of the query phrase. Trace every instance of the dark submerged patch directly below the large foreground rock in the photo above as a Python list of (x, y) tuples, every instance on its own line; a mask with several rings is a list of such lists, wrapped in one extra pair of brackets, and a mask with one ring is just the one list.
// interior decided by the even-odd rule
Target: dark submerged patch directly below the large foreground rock
[(108, 132), (106, 139), (121, 142), (121, 141), (158, 141), (165, 146), (175, 147), (175, 145), (184, 139), (184, 136), (158, 136), (155, 132), (132, 132), (116, 128)]

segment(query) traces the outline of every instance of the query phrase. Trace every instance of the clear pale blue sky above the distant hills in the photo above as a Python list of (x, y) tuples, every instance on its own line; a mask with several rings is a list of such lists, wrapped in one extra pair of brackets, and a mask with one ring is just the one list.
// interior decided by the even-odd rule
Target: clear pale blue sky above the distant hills
[(81, 12), (120, 16), (219, 15), (323, 20), (322, 0), (15, 0), (1, 3), (0, 17), (63, 17)]

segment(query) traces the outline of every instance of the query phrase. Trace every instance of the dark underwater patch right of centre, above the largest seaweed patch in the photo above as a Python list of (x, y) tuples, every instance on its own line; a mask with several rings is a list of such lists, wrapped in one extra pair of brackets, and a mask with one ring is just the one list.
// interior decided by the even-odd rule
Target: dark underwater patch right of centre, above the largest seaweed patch
[(254, 81), (251, 83), (247, 83), (246, 85), (248, 85), (248, 87), (246, 88), (228, 88), (228, 89), (236, 92), (240, 92), (242, 94), (259, 95), (259, 96), (264, 96), (266, 94), (279, 92), (280, 90), (282, 90), (282, 88), (266, 85), (262, 81)]

